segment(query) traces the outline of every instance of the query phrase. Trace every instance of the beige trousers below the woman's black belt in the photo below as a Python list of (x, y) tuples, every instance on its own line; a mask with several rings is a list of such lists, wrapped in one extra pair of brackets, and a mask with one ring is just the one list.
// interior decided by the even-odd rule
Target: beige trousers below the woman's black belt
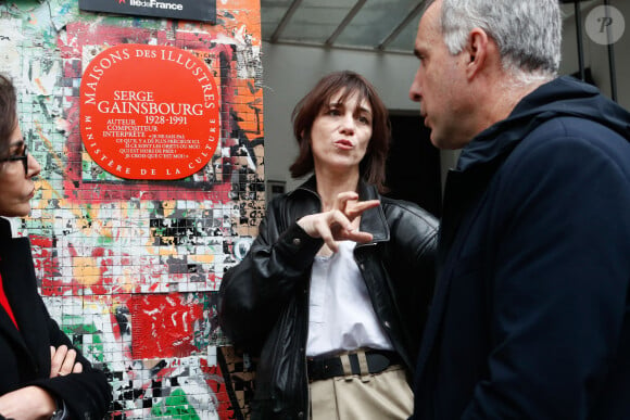
[(414, 396), (402, 366), (376, 374), (351, 374), (310, 385), (312, 420), (406, 420)]

